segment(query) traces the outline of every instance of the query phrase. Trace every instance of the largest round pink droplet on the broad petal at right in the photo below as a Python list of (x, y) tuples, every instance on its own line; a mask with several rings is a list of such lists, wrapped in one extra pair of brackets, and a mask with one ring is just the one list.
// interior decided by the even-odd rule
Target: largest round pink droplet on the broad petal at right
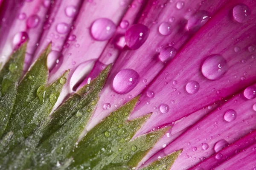
[(220, 54), (210, 55), (201, 68), (204, 77), (209, 80), (220, 79), (227, 69), (227, 61)]

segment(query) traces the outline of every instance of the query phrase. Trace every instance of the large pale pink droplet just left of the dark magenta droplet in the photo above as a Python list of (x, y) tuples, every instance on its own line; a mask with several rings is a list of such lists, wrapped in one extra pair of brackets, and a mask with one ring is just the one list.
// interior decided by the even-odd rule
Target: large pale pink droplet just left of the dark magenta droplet
[(91, 26), (91, 34), (95, 40), (109, 40), (116, 31), (116, 25), (108, 18), (99, 18)]

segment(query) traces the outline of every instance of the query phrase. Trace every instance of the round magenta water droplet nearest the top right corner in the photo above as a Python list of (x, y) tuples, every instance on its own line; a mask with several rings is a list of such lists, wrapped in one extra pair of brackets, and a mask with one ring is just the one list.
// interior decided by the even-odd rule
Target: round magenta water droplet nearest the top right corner
[(251, 10), (245, 4), (239, 4), (233, 8), (233, 17), (239, 23), (245, 23), (250, 20)]

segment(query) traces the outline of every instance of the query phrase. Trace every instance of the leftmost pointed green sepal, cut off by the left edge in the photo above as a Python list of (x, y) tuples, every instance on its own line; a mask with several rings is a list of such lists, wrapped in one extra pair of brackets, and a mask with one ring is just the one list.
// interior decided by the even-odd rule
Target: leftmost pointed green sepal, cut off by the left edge
[(26, 45), (27, 42), (15, 51), (0, 71), (0, 138), (6, 129), (14, 106), (17, 84), (23, 71)]

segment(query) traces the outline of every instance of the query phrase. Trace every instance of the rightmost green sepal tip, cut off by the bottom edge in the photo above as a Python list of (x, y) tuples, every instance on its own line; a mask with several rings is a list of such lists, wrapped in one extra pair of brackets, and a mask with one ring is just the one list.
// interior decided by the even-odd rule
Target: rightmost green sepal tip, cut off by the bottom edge
[(169, 170), (181, 152), (182, 150), (178, 150), (168, 156), (154, 161), (152, 164), (142, 168), (141, 170)]

